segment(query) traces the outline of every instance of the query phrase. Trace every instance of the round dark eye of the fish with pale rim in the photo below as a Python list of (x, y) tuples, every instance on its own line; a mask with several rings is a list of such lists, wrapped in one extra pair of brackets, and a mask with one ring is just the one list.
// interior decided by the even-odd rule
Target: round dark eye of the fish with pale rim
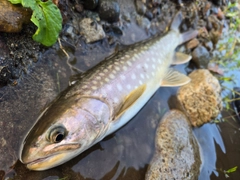
[(58, 126), (52, 127), (47, 134), (48, 134), (47, 136), (48, 141), (52, 143), (59, 143), (65, 138), (67, 131), (64, 126), (58, 125)]

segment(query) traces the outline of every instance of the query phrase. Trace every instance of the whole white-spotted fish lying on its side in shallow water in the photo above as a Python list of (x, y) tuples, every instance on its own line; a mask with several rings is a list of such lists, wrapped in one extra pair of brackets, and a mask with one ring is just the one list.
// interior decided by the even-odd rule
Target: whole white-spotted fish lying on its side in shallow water
[(164, 35), (138, 42), (80, 74), (40, 114), (19, 150), (28, 169), (41, 171), (61, 165), (124, 126), (160, 86), (181, 86), (190, 78), (172, 68), (190, 55), (175, 52), (197, 36), (179, 32), (176, 13)]

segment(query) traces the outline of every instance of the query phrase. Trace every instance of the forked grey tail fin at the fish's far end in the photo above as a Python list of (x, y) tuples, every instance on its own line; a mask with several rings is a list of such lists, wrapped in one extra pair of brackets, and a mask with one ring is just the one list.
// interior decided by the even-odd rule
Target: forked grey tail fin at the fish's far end
[[(179, 26), (181, 25), (182, 21), (183, 21), (183, 15), (181, 11), (178, 11), (172, 21), (171, 30), (174, 30), (175, 32), (179, 32)], [(189, 30), (187, 32), (181, 33), (180, 34), (181, 44), (195, 38), (197, 34), (198, 34), (197, 30)]]

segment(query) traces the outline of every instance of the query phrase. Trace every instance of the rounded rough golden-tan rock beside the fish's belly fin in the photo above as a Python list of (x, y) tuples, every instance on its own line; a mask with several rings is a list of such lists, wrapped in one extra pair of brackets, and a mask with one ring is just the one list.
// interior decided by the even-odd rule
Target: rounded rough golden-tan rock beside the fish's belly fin
[(222, 110), (221, 86), (208, 70), (189, 74), (191, 82), (179, 88), (177, 97), (193, 126), (201, 126)]

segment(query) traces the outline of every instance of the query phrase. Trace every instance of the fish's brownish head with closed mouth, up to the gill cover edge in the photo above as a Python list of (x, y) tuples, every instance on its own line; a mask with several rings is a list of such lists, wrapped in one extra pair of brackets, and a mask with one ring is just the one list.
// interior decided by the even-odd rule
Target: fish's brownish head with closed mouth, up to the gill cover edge
[(38, 171), (63, 164), (100, 141), (109, 119), (109, 107), (100, 99), (56, 100), (26, 135), (19, 159)]

